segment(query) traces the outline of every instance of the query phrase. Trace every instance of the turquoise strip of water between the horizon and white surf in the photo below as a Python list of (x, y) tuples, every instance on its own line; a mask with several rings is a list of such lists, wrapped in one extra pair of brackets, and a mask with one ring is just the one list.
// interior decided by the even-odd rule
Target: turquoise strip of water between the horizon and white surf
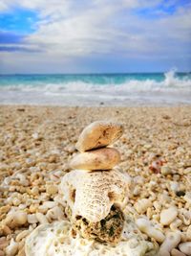
[[(191, 80), (190, 73), (177, 73), (176, 78)], [(40, 85), (84, 82), (87, 84), (123, 84), (127, 81), (164, 81), (163, 73), (135, 74), (93, 74), (93, 75), (0, 75), (0, 86), (7, 85)]]

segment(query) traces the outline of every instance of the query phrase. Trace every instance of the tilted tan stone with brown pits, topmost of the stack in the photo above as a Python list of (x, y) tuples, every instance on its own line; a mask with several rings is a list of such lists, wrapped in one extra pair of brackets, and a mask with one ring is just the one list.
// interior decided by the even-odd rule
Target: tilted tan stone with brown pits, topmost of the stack
[(75, 148), (90, 151), (114, 143), (123, 133), (123, 126), (110, 121), (96, 121), (84, 128), (79, 135)]

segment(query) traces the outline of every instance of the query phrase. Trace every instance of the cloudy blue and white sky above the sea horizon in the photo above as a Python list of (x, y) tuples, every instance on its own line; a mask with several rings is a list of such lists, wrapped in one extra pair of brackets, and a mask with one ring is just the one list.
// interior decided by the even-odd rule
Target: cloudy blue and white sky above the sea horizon
[(190, 0), (0, 0), (0, 74), (191, 71)]

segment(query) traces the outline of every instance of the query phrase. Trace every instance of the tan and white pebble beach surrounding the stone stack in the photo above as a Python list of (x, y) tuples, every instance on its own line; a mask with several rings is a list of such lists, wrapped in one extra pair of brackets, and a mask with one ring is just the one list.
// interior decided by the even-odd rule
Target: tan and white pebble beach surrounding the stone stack
[(110, 119), (125, 128), (114, 144), (131, 177), (125, 214), (160, 256), (191, 255), (190, 113), (191, 106), (1, 105), (0, 256), (25, 256), (36, 226), (67, 218), (58, 186), (78, 135)]

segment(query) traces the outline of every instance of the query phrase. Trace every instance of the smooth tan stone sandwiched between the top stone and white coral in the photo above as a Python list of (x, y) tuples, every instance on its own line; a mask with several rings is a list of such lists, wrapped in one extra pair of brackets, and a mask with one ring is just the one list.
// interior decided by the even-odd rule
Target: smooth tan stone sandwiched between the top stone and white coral
[(69, 166), (71, 169), (109, 170), (120, 160), (120, 153), (116, 149), (104, 148), (76, 154)]

